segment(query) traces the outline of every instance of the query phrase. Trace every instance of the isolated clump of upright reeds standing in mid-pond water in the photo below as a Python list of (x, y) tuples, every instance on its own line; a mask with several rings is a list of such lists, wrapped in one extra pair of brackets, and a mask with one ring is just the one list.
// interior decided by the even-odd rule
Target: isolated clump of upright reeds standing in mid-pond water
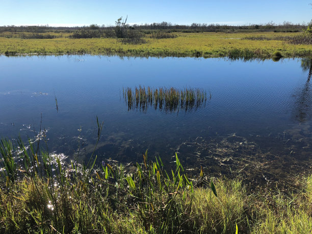
[[(190, 111), (205, 105), (207, 93), (200, 88), (176, 89), (173, 87), (151, 88), (144, 86), (123, 88), (123, 98), (128, 110), (140, 109), (146, 111), (148, 106), (155, 110), (175, 112), (180, 109)], [(211, 98), (211, 95), (210, 95)]]

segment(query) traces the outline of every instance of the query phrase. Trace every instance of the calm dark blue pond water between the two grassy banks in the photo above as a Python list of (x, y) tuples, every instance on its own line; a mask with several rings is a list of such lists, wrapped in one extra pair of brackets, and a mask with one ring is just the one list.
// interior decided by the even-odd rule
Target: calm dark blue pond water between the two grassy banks
[[(190, 170), (287, 178), (311, 166), (310, 60), (0, 56), (0, 136), (46, 130), (49, 152), (123, 163), (179, 158)], [(310, 71), (310, 73), (309, 73)], [(128, 110), (123, 88), (201, 88), (187, 111)], [(211, 98), (210, 98), (211, 95)], [(42, 116), (42, 117), (41, 117)], [(42, 121), (42, 122), (41, 122)], [(258, 173), (258, 174), (257, 174)], [(256, 176), (255, 176), (256, 175)]]

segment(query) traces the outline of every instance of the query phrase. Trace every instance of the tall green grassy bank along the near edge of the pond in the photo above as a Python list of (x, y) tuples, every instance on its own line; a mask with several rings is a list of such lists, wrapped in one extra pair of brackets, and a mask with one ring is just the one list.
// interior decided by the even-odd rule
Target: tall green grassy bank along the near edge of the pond
[(128, 167), (96, 167), (93, 154), (86, 164), (66, 166), (38, 145), (1, 142), (2, 233), (312, 231), (312, 176), (294, 179), (300, 189), (287, 194), (255, 194), (240, 179), (211, 178), (202, 170), (190, 177), (177, 156), (168, 173), (147, 151), (142, 163)]

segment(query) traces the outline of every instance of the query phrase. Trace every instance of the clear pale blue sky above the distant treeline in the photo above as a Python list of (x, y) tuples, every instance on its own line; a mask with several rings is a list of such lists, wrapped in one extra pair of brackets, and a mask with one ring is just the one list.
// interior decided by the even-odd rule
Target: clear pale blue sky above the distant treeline
[(130, 24), (307, 23), (312, 19), (310, 3), (312, 0), (0, 0), (0, 25), (114, 25), (126, 15)]

